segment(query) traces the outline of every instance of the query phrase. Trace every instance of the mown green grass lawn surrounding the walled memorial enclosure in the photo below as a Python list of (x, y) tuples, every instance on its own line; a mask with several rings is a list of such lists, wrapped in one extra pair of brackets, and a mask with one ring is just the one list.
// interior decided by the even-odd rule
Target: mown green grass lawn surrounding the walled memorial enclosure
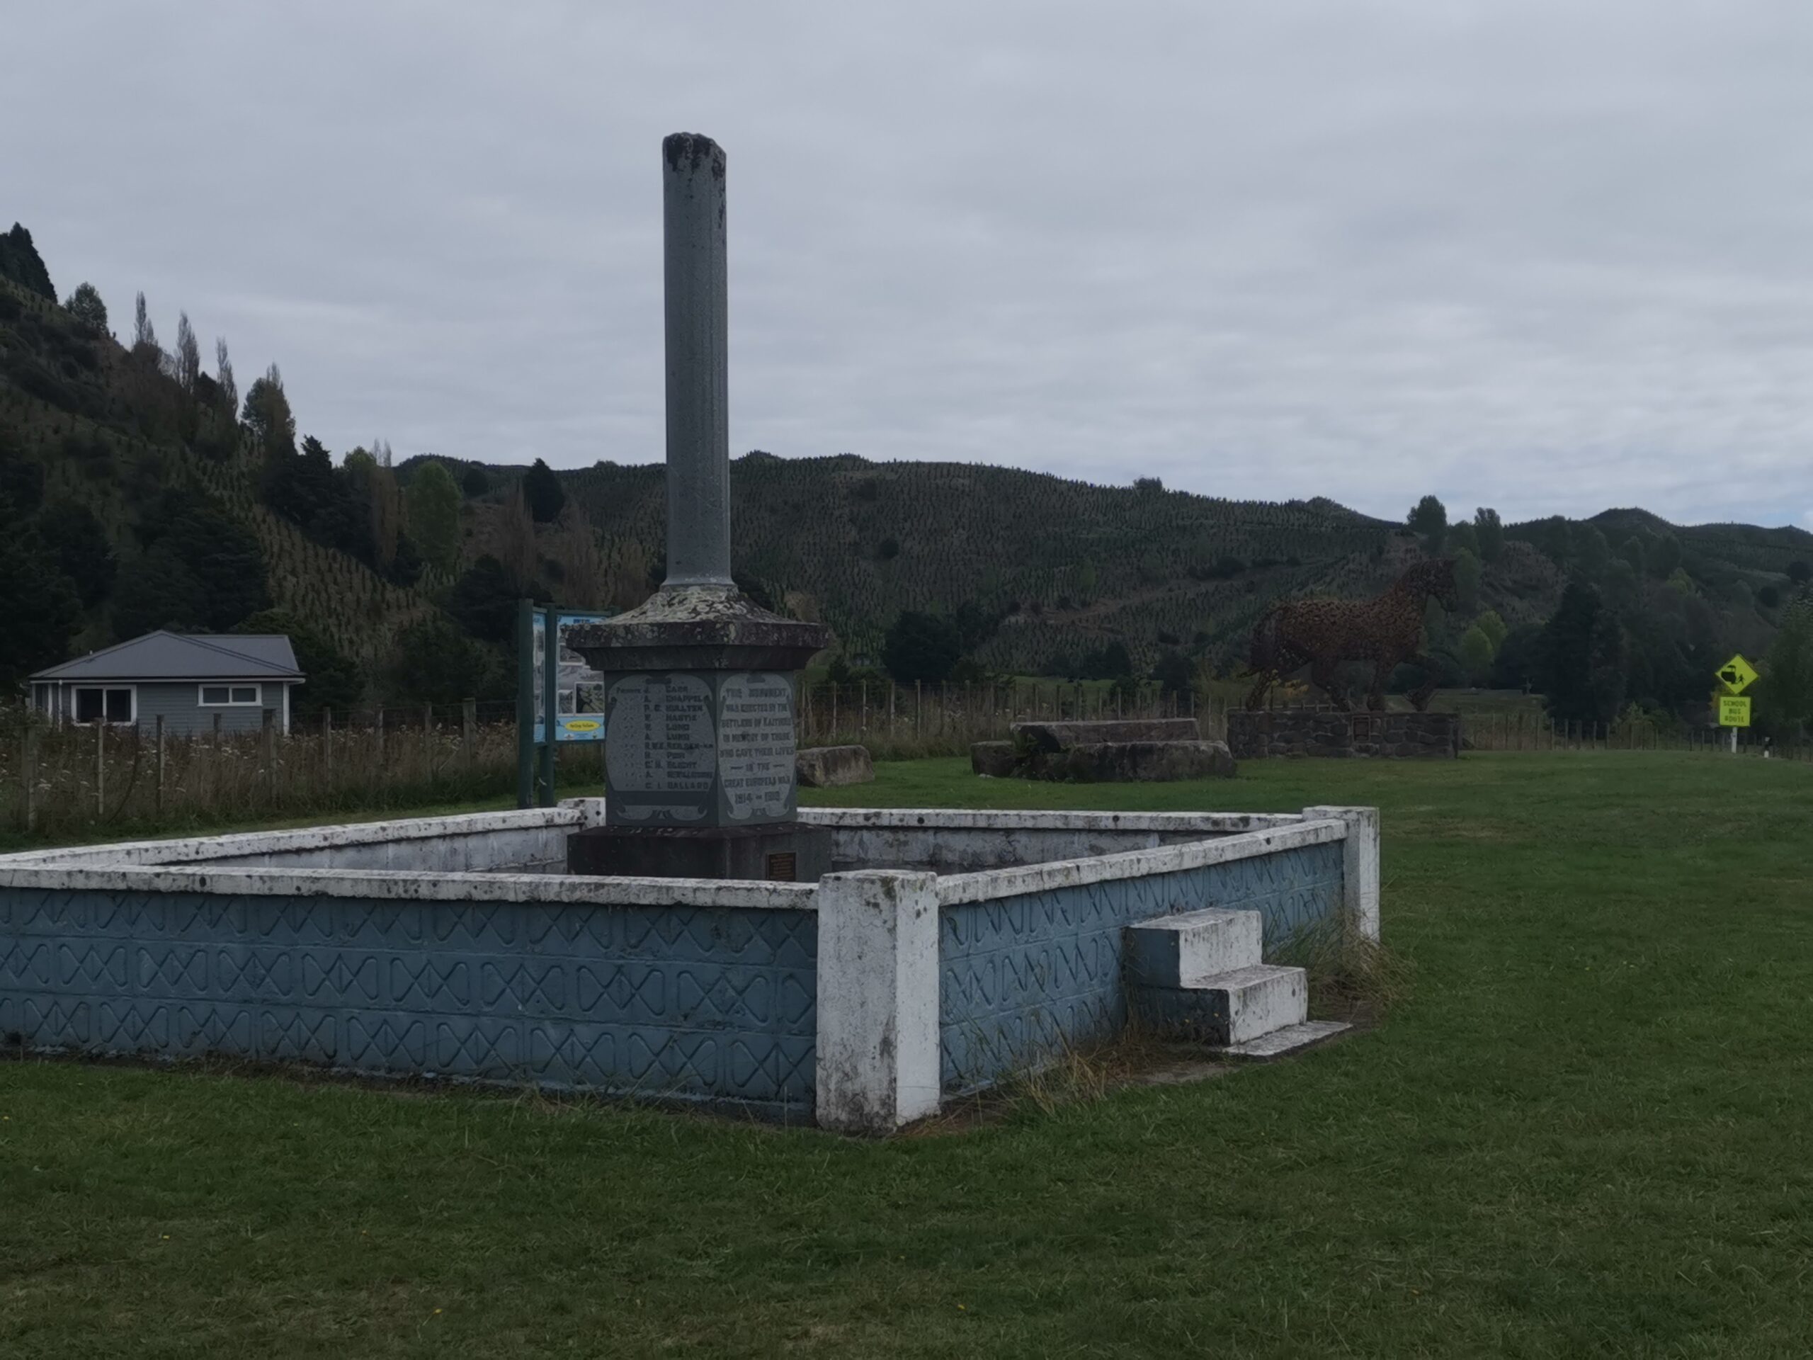
[(856, 1142), (0, 1063), (0, 1355), (1806, 1355), (1813, 769), (885, 765), (838, 803), (1385, 811), (1385, 1026)]

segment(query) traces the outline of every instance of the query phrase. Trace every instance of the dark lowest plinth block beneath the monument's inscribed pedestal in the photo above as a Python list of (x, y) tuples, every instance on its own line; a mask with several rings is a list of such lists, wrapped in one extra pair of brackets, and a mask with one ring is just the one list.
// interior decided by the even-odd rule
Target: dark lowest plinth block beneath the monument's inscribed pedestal
[(756, 827), (587, 827), (567, 836), (567, 872), (613, 878), (742, 878), (818, 883), (830, 831), (798, 821)]

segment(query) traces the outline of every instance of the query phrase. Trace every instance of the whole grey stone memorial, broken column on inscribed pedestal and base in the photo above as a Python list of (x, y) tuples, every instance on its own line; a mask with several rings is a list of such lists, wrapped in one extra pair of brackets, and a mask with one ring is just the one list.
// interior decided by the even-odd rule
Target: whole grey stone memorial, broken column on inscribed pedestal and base
[(667, 580), (567, 631), (604, 675), (606, 825), (567, 841), (575, 874), (810, 881), (830, 838), (796, 818), (794, 676), (821, 624), (731, 580), (723, 151), (662, 141), (667, 294)]

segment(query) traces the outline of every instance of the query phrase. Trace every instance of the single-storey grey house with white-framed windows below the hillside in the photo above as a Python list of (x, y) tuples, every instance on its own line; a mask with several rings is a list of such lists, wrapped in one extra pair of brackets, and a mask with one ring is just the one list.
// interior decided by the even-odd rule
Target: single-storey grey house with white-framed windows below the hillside
[(105, 722), (172, 736), (290, 731), (290, 685), (303, 684), (281, 633), (147, 633), (31, 676), (31, 705), (56, 722)]

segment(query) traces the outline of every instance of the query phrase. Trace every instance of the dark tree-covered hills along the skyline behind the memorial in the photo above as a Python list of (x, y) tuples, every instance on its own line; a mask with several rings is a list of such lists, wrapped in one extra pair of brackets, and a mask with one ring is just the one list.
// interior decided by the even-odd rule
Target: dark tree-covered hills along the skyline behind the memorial
[[(31, 236), (0, 236), (0, 682), (149, 627), (281, 627), (312, 705), (502, 695), (517, 598), (631, 606), (658, 584), (660, 464), (328, 450), (274, 364), (241, 390), (225, 341), (210, 348), (205, 364), (187, 316), (165, 346), (141, 297), (116, 341), (92, 288), (58, 301)], [(1425, 499), (1387, 522), (856, 455), (747, 453), (732, 504), (745, 589), (830, 624), (829, 660), (854, 671), (1178, 684), (1236, 671), (1273, 600), (1372, 593), (1441, 551), (1463, 580), (1459, 609), (1429, 617), (1449, 682), (1543, 685), (1565, 626), (1592, 704), (1679, 709), (1731, 649), (1771, 647), (1813, 560), (1798, 529), (1641, 510), (1450, 524)], [(912, 658), (888, 649), (903, 618), (926, 644)]]

